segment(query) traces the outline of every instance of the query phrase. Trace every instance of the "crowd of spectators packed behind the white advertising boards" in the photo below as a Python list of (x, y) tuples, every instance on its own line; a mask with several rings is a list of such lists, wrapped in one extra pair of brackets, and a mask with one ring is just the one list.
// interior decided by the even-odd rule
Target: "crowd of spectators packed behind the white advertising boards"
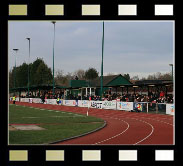
[[(28, 97), (28, 93), (26, 96), (21, 96), (21, 97)], [(52, 94), (51, 91), (43, 91), (42, 93), (37, 93), (37, 95), (33, 95), (31, 92), (29, 93), (29, 97), (31, 98), (41, 98), (41, 99), (57, 99), (58, 97), (60, 99), (64, 99), (64, 93), (60, 91), (56, 91), (55, 95)], [(67, 100), (89, 100), (89, 95), (82, 96), (79, 95), (72, 95), (68, 94), (65, 99)], [(119, 101), (126, 101), (126, 102), (152, 102), (152, 103), (173, 103), (173, 95), (168, 94), (165, 95), (163, 91), (159, 93), (153, 93), (149, 92), (148, 94), (140, 94), (140, 93), (133, 93), (133, 94), (127, 94), (124, 93), (121, 95), (120, 93), (113, 93), (112, 95), (106, 94), (104, 98), (100, 98), (100, 96), (93, 95), (91, 96), (91, 100), (107, 100), (107, 101), (112, 101), (112, 100), (119, 100)]]

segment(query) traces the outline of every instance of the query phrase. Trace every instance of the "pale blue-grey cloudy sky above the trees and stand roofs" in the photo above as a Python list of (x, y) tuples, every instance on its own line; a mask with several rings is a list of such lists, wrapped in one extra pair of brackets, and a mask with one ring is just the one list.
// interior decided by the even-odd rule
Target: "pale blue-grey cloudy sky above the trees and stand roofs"
[[(174, 63), (173, 21), (105, 21), (104, 75), (130, 74), (147, 77), (171, 72)], [(96, 68), (101, 74), (102, 21), (57, 21), (55, 24), (55, 72), (65, 74)], [(43, 58), (53, 67), (51, 21), (9, 21), (9, 70), (23, 62)], [(30, 59), (27, 37), (30, 37)], [(14, 48), (19, 51), (15, 53)]]

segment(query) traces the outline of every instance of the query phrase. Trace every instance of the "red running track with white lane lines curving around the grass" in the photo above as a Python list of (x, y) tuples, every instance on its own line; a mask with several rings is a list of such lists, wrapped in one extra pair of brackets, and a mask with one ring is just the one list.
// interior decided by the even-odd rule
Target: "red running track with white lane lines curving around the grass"
[[(88, 108), (16, 102), (18, 105), (86, 114)], [(173, 145), (174, 118), (171, 115), (146, 114), (90, 108), (89, 116), (104, 119), (107, 125), (94, 133), (58, 142), (64, 145)]]

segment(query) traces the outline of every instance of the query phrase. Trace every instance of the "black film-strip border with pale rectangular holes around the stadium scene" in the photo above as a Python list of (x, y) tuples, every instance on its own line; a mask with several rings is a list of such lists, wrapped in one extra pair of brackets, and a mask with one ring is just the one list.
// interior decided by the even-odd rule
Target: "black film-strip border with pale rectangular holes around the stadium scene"
[[(2, 2), (1, 2), (2, 3)], [(9, 16), (8, 5), (9, 4), (27, 4), (28, 14), (27, 16)], [(45, 16), (46, 4), (63, 4), (64, 16)], [(100, 16), (82, 16), (81, 5), (82, 4), (100, 4), (101, 15)], [(137, 4), (137, 16), (118, 16), (118, 4)], [(155, 16), (154, 5), (155, 4), (173, 4), (174, 15), (173, 16)], [(8, 20), (170, 20), (175, 21), (175, 29), (177, 25), (176, 21), (176, 3), (175, 0), (8, 0), (0, 6), (1, 14), (1, 26), (0, 26), (0, 72), (1, 72), (1, 99), (0, 99), (0, 163), (4, 163), (5, 166), (18, 166), (18, 165), (131, 165), (144, 166), (152, 164), (156, 165), (180, 165), (183, 163), (183, 123), (181, 109), (175, 112), (175, 145), (8, 145)], [(109, 12), (110, 11), (110, 12)], [(177, 33), (175, 33), (175, 39)], [(176, 41), (175, 41), (176, 43)], [(177, 47), (175, 48), (176, 55)], [(175, 63), (177, 58), (175, 58)], [(177, 68), (177, 67), (176, 67)], [(176, 71), (176, 69), (175, 69)], [(177, 85), (177, 81), (175, 82)], [(175, 92), (175, 94), (177, 94)], [(175, 98), (176, 99), (176, 98)], [(179, 101), (176, 99), (176, 108), (179, 108)], [(181, 102), (180, 102), (181, 103)], [(180, 107), (181, 108), (181, 107)], [(101, 150), (101, 161), (95, 162), (83, 162), (82, 150)], [(138, 161), (118, 161), (118, 150), (137, 150)], [(28, 150), (27, 162), (10, 162), (9, 150)], [(65, 160), (63, 162), (47, 162), (45, 160), (46, 150), (64, 150)], [(174, 150), (174, 161), (155, 161), (155, 150)], [(109, 158), (110, 156), (110, 158)]]

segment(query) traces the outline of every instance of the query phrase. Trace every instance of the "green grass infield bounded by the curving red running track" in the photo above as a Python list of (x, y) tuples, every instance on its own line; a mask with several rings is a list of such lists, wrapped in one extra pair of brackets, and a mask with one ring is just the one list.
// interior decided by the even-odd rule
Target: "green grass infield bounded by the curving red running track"
[(103, 126), (104, 121), (82, 114), (9, 105), (9, 124), (40, 124), (40, 127), (46, 129), (9, 131), (10, 145), (48, 144), (93, 131)]

